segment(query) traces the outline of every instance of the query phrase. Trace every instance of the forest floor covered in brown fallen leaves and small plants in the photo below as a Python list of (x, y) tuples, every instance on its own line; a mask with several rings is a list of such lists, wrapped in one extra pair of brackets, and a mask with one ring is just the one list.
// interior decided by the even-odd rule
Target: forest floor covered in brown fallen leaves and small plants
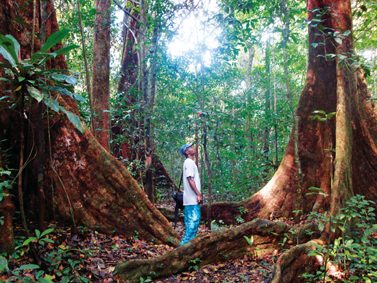
[[(31, 226), (30, 230), (35, 231), (35, 225), (32, 223)], [(13, 259), (8, 262), (8, 268), (2, 272), (0, 257), (0, 282), (17, 282), (21, 278), (24, 278), (23, 282), (43, 282), (46, 274), (46, 278), (53, 282), (124, 282), (113, 274), (117, 264), (126, 260), (154, 258), (173, 249), (168, 245), (143, 242), (138, 236), (125, 238), (121, 235), (104, 235), (86, 227), (77, 227), (75, 231), (73, 227), (60, 227), (56, 223), (49, 223), (47, 229), (51, 229), (49, 234), (33, 241), (39, 254), (39, 269), (34, 265), (28, 265), (38, 262), (30, 256), (32, 252), (29, 245), (23, 245), (27, 240), (23, 229), (20, 226), (15, 228), (14, 234), (19, 247)], [(178, 222), (177, 231), (183, 236), (183, 223)], [(198, 234), (208, 232), (202, 223)], [(32, 234), (32, 237), (36, 237), (36, 233)], [(267, 283), (271, 282), (273, 264), (280, 252), (276, 250), (274, 254), (260, 258), (245, 255), (238, 260), (208, 265), (200, 269), (193, 264), (187, 272), (154, 281), (141, 278), (140, 282)], [(42, 270), (45, 273), (42, 273)]]

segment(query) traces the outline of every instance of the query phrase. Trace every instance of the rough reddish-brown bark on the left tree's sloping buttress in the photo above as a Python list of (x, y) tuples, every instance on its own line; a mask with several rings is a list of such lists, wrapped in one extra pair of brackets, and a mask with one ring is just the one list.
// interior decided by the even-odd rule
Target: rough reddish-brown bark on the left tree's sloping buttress
[[(58, 30), (51, 1), (49, 4), (47, 36)], [(25, 7), (25, 10), (19, 10), (19, 6)], [(0, 27), (1, 34), (12, 34), (21, 44), (22, 59), (29, 58), (30, 38), (26, 32), (31, 34), (31, 27), (23, 27), (15, 23), (14, 19), (22, 16), (26, 22), (32, 21), (32, 5), (26, 5), (21, 0), (1, 0), (0, 14), (1, 21), (6, 24)], [(39, 41), (36, 41), (36, 49), (38, 44)], [(61, 47), (62, 45), (58, 44), (54, 48)], [(67, 69), (64, 56), (51, 60), (47, 67)], [(58, 102), (67, 110), (78, 113), (77, 104), (70, 98), (64, 97), (63, 100), (60, 97)], [(3, 126), (0, 132), (0, 140), (3, 141), (1, 148), (10, 148), (10, 168), (16, 168), (20, 158), (19, 136), (16, 135), (21, 131), (19, 116), (11, 111), (2, 111), (0, 117)], [(35, 122), (35, 119), (31, 118), (31, 121)], [(87, 128), (82, 135), (66, 117), (55, 115), (51, 119), (49, 131), (45, 129), (45, 133), (51, 135), (51, 152), (46, 148), (48, 155), (51, 153), (51, 160), (45, 163), (45, 176), (49, 178), (44, 179), (46, 214), (51, 213), (46, 215), (47, 219), (52, 218), (55, 210), (57, 220), (62, 223), (93, 227), (105, 233), (116, 231), (124, 236), (138, 234), (143, 240), (178, 245), (179, 236), (170, 223), (149, 202), (122, 164), (104, 150)], [(29, 185), (25, 197), (28, 198), (27, 211), (36, 212), (36, 176), (32, 174), (36, 168), (32, 166), (36, 164), (29, 165)], [(49, 182), (51, 179), (53, 185)], [(32, 215), (29, 217), (33, 218)], [(1, 241), (5, 241), (3, 237), (4, 235), (0, 234)]]

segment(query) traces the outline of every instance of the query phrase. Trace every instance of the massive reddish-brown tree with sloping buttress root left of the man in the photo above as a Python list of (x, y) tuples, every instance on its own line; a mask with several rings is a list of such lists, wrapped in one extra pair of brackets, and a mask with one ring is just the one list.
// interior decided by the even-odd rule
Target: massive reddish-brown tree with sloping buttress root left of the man
[[(35, 23), (35, 32), (38, 34), (42, 25), (46, 25), (47, 37), (58, 31), (55, 8), (52, 1), (47, 1), (46, 22), (40, 21), (40, 2), (36, 1), (36, 17), (33, 21), (33, 5), (29, 1), (1, 0), (0, 2), (0, 34), (11, 34), (21, 45), (19, 57), (27, 60), (32, 54), (32, 27)], [(21, 7), (21, 8), (20, 8)], [(23, 19), (23, 21), (20, 21)], [(58, 45), (51, 48), (51, 52), (62, 48)], [(35, 39), (34, 52), (40, 50), (40, 42)], [(0, 56), (2, 63), (5, 58)], [(47, 68), (66, 69), (64, 56), (57, 56), (49, 60)], [(6, 77), (1, 69), (1, 77)], [(8, 77), (9, 78), (9, 77)], [(1, 97), (3, 99), (0, 115), (0, 140), (1, 150), (7, 150), (8, 159), (2, 159), (8, 168), (19, 168), (22, 143), (20, 133), (25, 135), (24, 160), (27, 166), (20, 172), (23, 174), (23, 195), (25, 212), (32, 212), (28, 216), (38, 215), (38, 197), (36, 187), (36, 162), (28, 159), (35, 155), (33, 144), (36, 128), (36, 104), (17, 104), (16, 108), (10, 108), (13, 102), (20, 101), (20, 91), (14, 91), (12, 85), (2, 86)], [(69, 96), (53, 96), (60, 106), (66, 110), (78, 114), (77, 105)], [(46, 112), (45, 112), (46, 113)], [(100, 231), (117, 231), (125, 236), (133, 236), (138, 233), (139, 238), (165, 242), (177, 245), (178, 234), (170, 223), (156, 210), (145, 193), (139, 188), (122, 164), (114, 159), (93, 135), (84, 127), (84, 134), (66, 119), (65, 115), (45, 115), (45, 144), (47, 154), (44, 171), (47, 219), (62, 220), (85, 227), (98, 227)], [(24, 128), (21, 128), (21, 118), (27, 117)], [(29, 123), (29, 124), (28, 124)], [(30, 125), (30, 126), (29, 126)], [(51, 150), (50, 150), (51, 149)], [(27, 175), (26, 175), (27, 174)], [(21, 176), (21, 175), (20, 175)], [(27, 182), (26, 182), (26, 181)], [(17, 191), (12, 190), (17, 196)], [(5, 202), (5, 201), (6, 202)], [(4, 199), (0, 202), (1, 216), (5, 216), (4, 223), (8, 226), (8, 235), (12, 234), (12, 201)], [(18, 201), (15, 201), (19, 205)], [(1, 227), (6, 229), (7, 227)], [(2, 230), (5, 231), (5, 230)], [(0, 242), (9, 242), (10, 237), (4, 238), (1, 233)], [(1, 248), (4, 246), (1, 245)]]

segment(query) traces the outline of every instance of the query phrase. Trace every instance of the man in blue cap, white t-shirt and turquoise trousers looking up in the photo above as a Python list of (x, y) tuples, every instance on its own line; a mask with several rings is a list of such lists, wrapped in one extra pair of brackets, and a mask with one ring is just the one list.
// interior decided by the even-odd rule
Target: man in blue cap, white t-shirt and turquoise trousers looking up
[(184, 225), (186, 231), (180, 242), (180, 246), (195, 238), (200, 222), (200, 203), (202, 203), (202, 193), (200, 192), (200, 179), (197, 166), (194, 162), (196, 153), (193, 142), (185, 144), (181, 148), (181, 153), (186, 157), (183, 164), (183, 205), (184, 205)]

